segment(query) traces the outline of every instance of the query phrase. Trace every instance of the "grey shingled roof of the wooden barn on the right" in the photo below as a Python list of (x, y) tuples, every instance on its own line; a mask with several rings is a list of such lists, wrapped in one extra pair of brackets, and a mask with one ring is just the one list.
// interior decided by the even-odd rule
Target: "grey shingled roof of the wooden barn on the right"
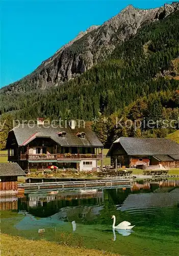
[(120, 137), (113, 142), (108, 156), (114, 144), (121, 144), (129, 156), (171, 156), (179, 153), (179, 144), (169, 139)]

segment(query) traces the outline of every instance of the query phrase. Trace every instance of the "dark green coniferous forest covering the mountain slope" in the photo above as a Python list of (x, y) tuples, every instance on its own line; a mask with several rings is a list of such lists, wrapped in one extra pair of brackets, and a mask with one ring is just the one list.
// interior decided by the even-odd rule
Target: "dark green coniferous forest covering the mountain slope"
[[(9, 120), (8, 128), (13, 118), (84, 119), (106, 145), (120, 136), (165, 137), (178, 129), (179, 11), (143, 25), (108, 59), (59, 86), (34, 90), (27, 77), (20, 91), (2, 88), (0, 115)], [(160, 123), (154, 129), (116, 127), (116, 118), (139, 123), (174, 119), (176, 128)], [(7, 132), (0, 133), (5, 141)]]

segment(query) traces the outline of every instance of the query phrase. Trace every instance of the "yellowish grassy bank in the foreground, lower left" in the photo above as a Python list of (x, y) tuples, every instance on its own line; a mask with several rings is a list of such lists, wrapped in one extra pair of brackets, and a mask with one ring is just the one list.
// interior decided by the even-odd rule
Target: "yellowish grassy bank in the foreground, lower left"
[(72, 248), (66, 245), (59, 245), (54, 242), (48, 242), (45, 240), (33, 241), (20, 237), (12, 237), (8, 234), (1, 234), (1, 255), (2, 256), (102, 256), (112, 255), (105, 253), (104, 251), (84, 249), (84, 248)]

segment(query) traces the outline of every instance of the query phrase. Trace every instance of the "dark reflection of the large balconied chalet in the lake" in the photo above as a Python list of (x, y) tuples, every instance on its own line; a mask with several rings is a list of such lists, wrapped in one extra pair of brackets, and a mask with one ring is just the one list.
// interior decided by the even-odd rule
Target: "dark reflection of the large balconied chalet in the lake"
[(47, 217), (56, 214), (68, 206), (100, 205), (103, 203), (102, 189), (66, 191), (64, 193), (29, 194), (19, 200), (19, 210), (25, 210), (34, 216)]

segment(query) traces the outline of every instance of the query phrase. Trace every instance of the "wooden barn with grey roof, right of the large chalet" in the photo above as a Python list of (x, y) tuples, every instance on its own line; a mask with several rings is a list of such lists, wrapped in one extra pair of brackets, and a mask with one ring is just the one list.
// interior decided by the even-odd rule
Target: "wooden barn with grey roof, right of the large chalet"
[(179, 167), (179, 144), (163, 138), (120, 137), (113, 142), (107, 156), (115, 166), (173, 168)]

